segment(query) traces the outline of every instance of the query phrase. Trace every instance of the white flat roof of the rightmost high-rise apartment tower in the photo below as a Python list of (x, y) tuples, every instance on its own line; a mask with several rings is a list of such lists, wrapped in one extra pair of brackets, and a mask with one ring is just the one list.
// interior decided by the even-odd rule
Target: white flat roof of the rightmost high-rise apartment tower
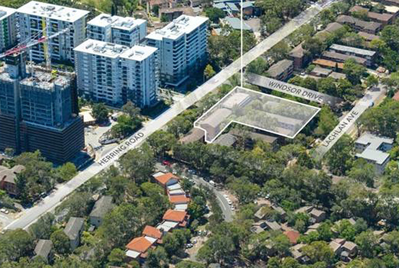
[(162, 40), (163, 38), (176, 39), (183, 34), (191, 33), (206, 21), (208, 21), (206, 17), (181, 15), (162, 29), (153, 31), (146, 38), (155, 40)]

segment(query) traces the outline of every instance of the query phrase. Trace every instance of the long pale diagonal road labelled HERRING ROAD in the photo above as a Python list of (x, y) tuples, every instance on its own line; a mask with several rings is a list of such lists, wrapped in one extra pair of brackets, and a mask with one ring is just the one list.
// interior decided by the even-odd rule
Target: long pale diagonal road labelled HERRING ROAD
[[(298, 29), (300, 26), (309, 22), (314, 18), (321, 10), (327, 8), (333, 1), (326, 1), (322, 6), (314, 4), (307, 10), (303, 11), (294, 19), (286, 23), (282, 28), (274, 32), (268, 38), (265, 38), (262, 42), (257, 44), (254, 48), (243, 55), (242, 66), (248, 65), (255, 58), (261, 56), (263, 53), (271, 49), (275, 44), (280, 42), (282, 39), (289, 36), (293, 31)], [(73, 177), (65, 185), (57, 189), (53, 195), (44, 198), (38, 205), (33, 208), (27, 209), (22, 215), (12, 223), (7, 225), (5, 229), (27, 229), (32, 223), (34, 223), (41, 215), (46, 212), (52, 211), (60, 202), (68, 196), (72, 191), (77, 189), (79, 186), (88, 181), (92, 176), (106, 169), (109, 165), (115, 163), (121, 155), (127, 151), (137, 148), (143, 141), (155, 131), (161, 129), (170, 120), (179, 115), (181, 112), (192, 106), (194, 103), (199, 101), (203, 96), (217, 89), (223, 84), (228, 78), (239, 72), (241, 69), (241, 58), (235, 60), (232, 64), (224, 68), (217, 75), (203, 83), (195, 91), (182, 98), (180, 101), (174, 103), (168, 110), (163, 114), (156, 117), (154, 120), (149, 122), (139, 132), (133, 134), (127, 138), (126, 142), (122, 145), (115, 146), (115, 150), (111, 150), (105, 155), (99, 162), (93, 163), (86, 170), (80, 172), (78, 175)]]

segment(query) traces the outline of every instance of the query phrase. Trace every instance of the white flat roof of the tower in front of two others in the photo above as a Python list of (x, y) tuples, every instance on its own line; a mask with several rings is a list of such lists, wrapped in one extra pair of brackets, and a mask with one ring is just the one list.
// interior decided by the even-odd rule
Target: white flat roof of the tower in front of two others
[(123, 57), (139, 61), (145, 59), (156, 50), (157, 48), (145, 45), (135, 45), (132, 48), (129, 48), (124, 45), (107, 43), (93, 39), (87, 39), (74, 49), (74, 51), (77, 52), (90, 53), (103, 57)]

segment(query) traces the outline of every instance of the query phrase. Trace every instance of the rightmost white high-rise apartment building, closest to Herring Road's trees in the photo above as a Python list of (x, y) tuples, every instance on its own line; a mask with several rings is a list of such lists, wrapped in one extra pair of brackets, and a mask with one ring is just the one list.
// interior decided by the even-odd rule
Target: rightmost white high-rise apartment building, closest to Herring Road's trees
[(177, 87), (207, 62), (208, 18), (181, 15), (146, 37), (160, 54), (162, 86)]

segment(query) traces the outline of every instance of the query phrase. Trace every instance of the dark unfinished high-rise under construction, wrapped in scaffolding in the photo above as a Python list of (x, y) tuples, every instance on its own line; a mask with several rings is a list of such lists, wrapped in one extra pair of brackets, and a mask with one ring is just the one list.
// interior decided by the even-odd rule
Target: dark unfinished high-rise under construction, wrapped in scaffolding
[(39, 150), (63, 163), (84, 147), (83, 119), (75, 114), (75, 76), (39, 67), (26, 73), (24, 54), (6, 57), (0, 70), (0, 150)]

